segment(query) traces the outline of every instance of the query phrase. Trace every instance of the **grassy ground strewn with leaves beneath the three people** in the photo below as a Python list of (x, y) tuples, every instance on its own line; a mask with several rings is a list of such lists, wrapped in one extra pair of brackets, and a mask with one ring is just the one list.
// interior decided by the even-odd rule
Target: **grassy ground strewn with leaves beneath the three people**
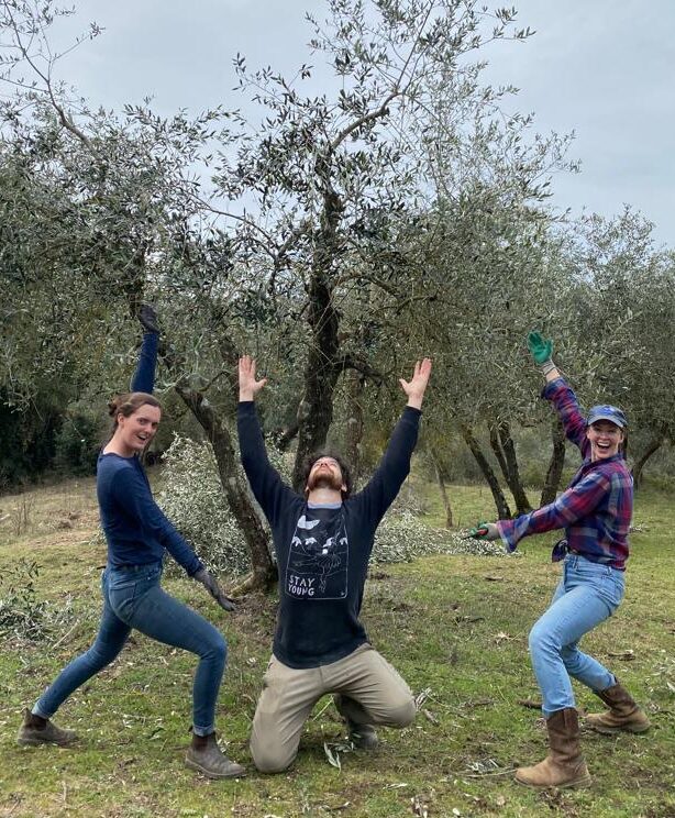
[[(427, 487), (431, 524), (442, 519)], [(489, 495), (451, 489), (455, 520), (494, 516)], [(66, 703), (57, 721), (81, 734), (76, 749), (14, 743), (21, 708), (74, 654), (98, 622), (104, 552), (92, 539), (92, 482), (0, 498), (0, 572), (36, 561), (36, 597), (67, 616), (42, 642), (11, 633), (0, 648), (0, 816), (675, 816), (675, 510), (666, 495), (638, 498), (628, 590), (617, 616), (586, 648), (648, 709), (641, 737), (584, 733), (589, 789), (534, 792), (511, 772), (545, 753), (539, 693), (527, 654), (558, 568), (552, 537), (523, 543), (521, 557), (434, 556), (374, 566), (363, 618), (375, 645), (423, 699), (417, 722), (381, 730), (373, 755), (341, 750), (344, 733), (328, 699), (319, 703), (299, 758), (286, 775), (251, 765), (247, 736), (274, 629), (273, 598), (251, 598), (228, 616), (187, 579), (167, 581), (222, 628), (230, 664), (219, 725), (241, 781), (209, 782), (182, 764), (189, 741), (195, 660), (135, 634), (121, 657)], [(0, 598), (7, 585), (0, 586)], [(577, 688), (580, 708), (599, 703)], [(328, 743), (341, 769), (329, 763)]]

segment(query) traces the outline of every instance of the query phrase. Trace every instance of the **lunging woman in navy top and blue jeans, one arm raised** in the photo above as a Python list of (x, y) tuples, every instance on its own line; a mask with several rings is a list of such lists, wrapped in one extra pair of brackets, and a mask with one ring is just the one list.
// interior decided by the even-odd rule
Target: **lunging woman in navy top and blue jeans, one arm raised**
[(20, 744), (60, 745), (75, 741), (75, 732), (56, 727), (52, 716), (75, 689), (118, 656), (135, 628), (199, 656), (187, 765), (211, 778), (239, 776), (244, 774), (244, 767), (226, 759), (215, 739), (215, 700), (225, 668), (225, 640), (210, 622), (166, 594), (159, 584), (166, 550), (222, 608), (234, 610), (232, 600), (156, 505), (141, 466), (139, 455), (154, 438), (162, 409), (152, 395), (158, 344), (152, 308), (144, 306), (140, 320), (145, 332), (132, 391), (110, 404), (112, 435), (99, 455), (97, 468), (101, 526), (108, 541), (99, 632), (91, 648), (62, 671), (33, 710), (25, 710), (18, 740)]

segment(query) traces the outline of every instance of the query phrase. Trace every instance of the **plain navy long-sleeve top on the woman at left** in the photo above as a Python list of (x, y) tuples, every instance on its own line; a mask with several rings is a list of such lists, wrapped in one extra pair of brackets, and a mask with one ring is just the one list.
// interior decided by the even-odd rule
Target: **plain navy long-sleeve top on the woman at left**
[[(152, 395), (158, 338), (145, 333), (131, 391)], [(101, 526), (108, 541), (108, 564), (146, 565), (161, 562), (166, 549), (192, 576), (203, 567), (153, 499), (147, 476), (136, 455), (100, 454), (96, 490)]]

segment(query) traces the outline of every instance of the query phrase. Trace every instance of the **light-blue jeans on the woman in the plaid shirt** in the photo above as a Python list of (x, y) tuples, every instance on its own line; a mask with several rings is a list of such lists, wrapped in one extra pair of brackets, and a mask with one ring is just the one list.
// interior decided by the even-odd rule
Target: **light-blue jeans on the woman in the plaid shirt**
[(622, 598), (622, 571), (578, 554), (565, 557), (551, 606), (530, 631), (530, 657), (546, 718), (575, 706), (571, 676), (593, 690), (616, 683), (606, 667), (578, 649), (578, 641), (610, 617)]

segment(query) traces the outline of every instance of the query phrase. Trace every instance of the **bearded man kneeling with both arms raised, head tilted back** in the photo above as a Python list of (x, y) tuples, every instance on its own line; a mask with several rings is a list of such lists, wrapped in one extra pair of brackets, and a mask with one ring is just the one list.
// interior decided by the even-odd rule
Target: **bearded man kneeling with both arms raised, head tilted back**
[(351, 741), (377, 745), (373, 725), (406, 727), (414, 719), (410, 688), (368, 643), (358, 620), (375, 530), (410, 471), (431, 361), (400, 379), (408, 405), (379, 466), (351, 494), (348, 467), (333, 453), (307, 461), (305, 497), (269, 464), (254, 400), (267, 383), (255, 361), (239, 364), (237, 411), (242, 463), (272, 527), (279, 568), (279, 610), (273, 655), (263, 679), (251, 736), (261, 772), (286, 770), (314, 704), (327, 693), (347, 722)]

